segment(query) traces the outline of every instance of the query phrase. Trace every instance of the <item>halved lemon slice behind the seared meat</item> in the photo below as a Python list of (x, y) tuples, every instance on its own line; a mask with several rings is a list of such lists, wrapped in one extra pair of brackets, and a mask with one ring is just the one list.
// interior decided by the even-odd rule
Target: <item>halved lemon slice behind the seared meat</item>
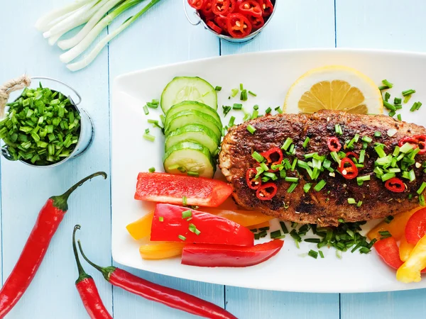
[(365, 74), (340, 65), (311, 69), (290, 87), (285, 113), (314, 113), (320, 110), (356, 114), (382, 114), (381, 91)]

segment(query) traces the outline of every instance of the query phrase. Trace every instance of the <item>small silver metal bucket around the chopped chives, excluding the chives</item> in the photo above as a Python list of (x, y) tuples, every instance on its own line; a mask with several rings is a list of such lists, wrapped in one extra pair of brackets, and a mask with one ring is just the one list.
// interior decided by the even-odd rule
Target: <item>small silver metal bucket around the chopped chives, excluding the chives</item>
[[(59, 164), (67, 162), (68, 159), (75, 158), (77, 156), (82, 155), (82, 153), (85, 150), (87, 150), (87, 148), (92, 143), (92, 140), (94, 138), (93, 121), (92, 121), (92, 118), (90, 118), (89, 113), (87, 113), (87, 111), (85, 111), (83, 108), (81, 108), (81, 107), (78, 106), (82, 102), (82, 97), (71, 86), (69, 86), (68, 84), (65, 84), (64, 82), (61, 82), (61, 81), (59, 81), (57, 79), (53, 79), (51, 77), (31, 77), (31, 80), (33, 80), (33, 79), (49, 80), (49, 81), (53, 81), (53, 82), (57, 82), (59, 84), (62, 84), (63, 86), (66, 86), (68, 89), (70, 89), (72, 92), (74, 92), (74, 94), (77, 96), (77, 99), (78, 99), (77, 103), (76, 103), (72, 99), (71, 96), (67, 96), (67, 98), (70, 99), (70, 103), (72, 104), (72, 106), (75, 108), (75, 110), (77, 111), (77, 113), (79, 113), (79, 115), (80, 115), (80, 135), (78, 137), (77, 144), (75, 145), (75, 149), (72, 150), (70, 156), (65, 157), (60, 162), (55, 162), (53, 164), (43, 165), (43, 166), (42, 165), (31, 164), (31, 162), (26, 162), (23, 159), (19, 160), (20, 162), (23, 162), (24, 164), (27, 164), (28, 166), (32, 166), (32, 167), (43, 167), (43, 168), (45, 168), (45, 167), (55, 167), (55, 166), (58, 166)], [(53, 90), (52, 89), (52, 91), (55, 92), (57, 90)], [(19, 99), (19, 97), (18, 97), (18, 99)], [(12, 160), (11, 155), (9, 155), (8, 150), (6, 148), (4, 148), (4, 147), (1, 147), (1, 155), (3, 155), (3, 157), (5, 159)]]

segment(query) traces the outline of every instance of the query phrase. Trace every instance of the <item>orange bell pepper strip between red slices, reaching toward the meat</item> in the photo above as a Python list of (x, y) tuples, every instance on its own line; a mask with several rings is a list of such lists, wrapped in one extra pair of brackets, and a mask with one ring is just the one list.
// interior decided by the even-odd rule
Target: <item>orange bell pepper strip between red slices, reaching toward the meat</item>
[(244, 226), (244, 227), (265, 223), (273, 219), (272, 216), (266, 216), (260, 211), (239, 211), (239, 210), (215, 209), (215, 208), (200, 208), (200, 211), (204, 211), (206, 213), (211, 213), (213, 215), (232, 220), (233, 222), (240, 224), (241, 226)]

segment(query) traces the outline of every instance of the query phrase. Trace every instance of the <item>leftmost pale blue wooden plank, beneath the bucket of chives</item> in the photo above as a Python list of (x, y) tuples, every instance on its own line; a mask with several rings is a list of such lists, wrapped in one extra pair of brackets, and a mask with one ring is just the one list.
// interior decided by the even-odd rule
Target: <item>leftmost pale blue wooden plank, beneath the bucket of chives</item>
[[(9, 50), (0, 51), (0, 81), (5, 82), (26, 72), (33, 76), (54, 77), (74, 86), (82, 95), (81, 106), (92, 116), (96, 130), (89, 150), (59, 167), (35, 169), (2, 159), (4, 280), (21, 254), (38, 211), (47, 198), (61, 194), (92, 172), (104, 170), (109, 173), (107, 51), (102, 52), (91, 67), (72, 74), (59, 61), (60, 49), (50, 47), (33, 26), (36, 18), (69, 2), (26, 1), (25, 8), (22, 1), (9, 1), (3, 5), (3, 12), (9, 14), (4, 14), (0, 20), (0, 30), (4, 30), (1, 40)], [(60, 86), (45, 84), (60, 89)], [(8, 318), (34, 318), (35, 314), (38, 318), (87, 316), (74, 284), (77, 267), (71, 247), (72, 228), (81, 223), (80, 237), (87, 253), (99, 264), (111, 263), (109, 180), (97, 178), (82, 186), (71, 196), (69, 207), (38, 274)], [(87, 264), (84, 267), (94, 275), (102, 299), (111, 310), (111, 286)]]

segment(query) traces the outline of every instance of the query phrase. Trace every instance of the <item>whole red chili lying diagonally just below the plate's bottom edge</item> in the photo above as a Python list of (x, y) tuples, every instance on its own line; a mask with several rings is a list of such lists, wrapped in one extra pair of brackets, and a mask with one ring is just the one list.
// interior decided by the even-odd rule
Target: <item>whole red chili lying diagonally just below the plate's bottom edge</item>
[(194, 315), (200, 315), (205, 318), (236, 319), (234, 315), (224, 310), (224, 308), (192, 296), (189, 293), (154, 284), (151, 281), (141, 279), (123, 269), (113, 266), (100, 267), (86, 257), (82, 250), (80, 240), (78, 240), (78, 246), (83, 258), (86, 259), (92, 267), (99, 270), (99, 272), (104, 275), (104, 278), (114, 286), (120, 287), (121, 289), (148, 300), (163, 303), (165, 306), (183, 310)]

